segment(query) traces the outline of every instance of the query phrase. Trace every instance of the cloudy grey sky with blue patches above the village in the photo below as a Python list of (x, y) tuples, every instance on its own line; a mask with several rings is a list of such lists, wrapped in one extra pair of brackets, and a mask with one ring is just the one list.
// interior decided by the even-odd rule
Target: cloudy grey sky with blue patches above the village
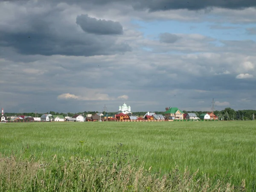
[(255, 15), (255, 0), (0, 0), (0, 107), (256, 110)]

